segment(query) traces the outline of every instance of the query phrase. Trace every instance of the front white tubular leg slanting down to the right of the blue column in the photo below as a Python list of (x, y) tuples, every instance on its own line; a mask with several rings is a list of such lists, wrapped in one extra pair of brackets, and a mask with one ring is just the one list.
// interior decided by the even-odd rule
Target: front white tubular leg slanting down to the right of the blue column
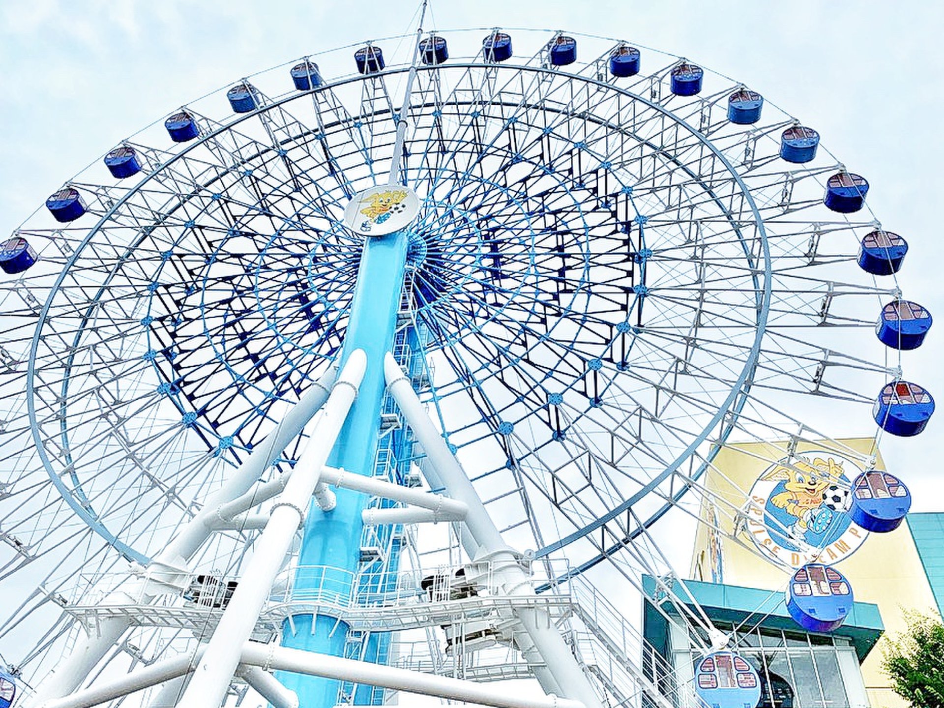
[[(439, 430), (436, 430), (423, 409), (423, 404), (413, 391), (410, 379), (404, 376), (396, 359), (389, 353), (384, 361), (384, 374), (388, 390), (396, 399), (400, 412), (403, 413), (413, 430), (417, 442), (426, 452), (428, 461), (435, 469), (449, 497), (463, 501), (468, 507), (465, 525), (475, 543), (478, 544), (478, 548), (473, 548), (473, 552), (479, 551), (494, 559), (496, 581), (504, 586), (509, 595), (533, 594), (534, 589), (531, 587), (530, 579), (524, 569), (518, 565), (514, 551), (502, 540), (501, 533), (491, 515), (488, 514), (488, 510), (481, 503), (472, 482), (469, 481), (459, 461), (449, 451), (446, 441), (443, 440)], [(469, 552), (468, 549), (466, 552)], [(507, 557), (506, 563), (502, 563), (502, 556)], [(554, 627), (548, 613), (544, 610), (518, 608), (515, 610), (515, 616), (548, 666), (547, 672), (536, 672), (542, 688), (550, 692), (555, 685), (559, 686), (564, 689), (566, 696), (582, 701), (586, 708), (601, 708), (597, 692), (577, 664), (564, 638)], [(544, 677), (548, 675), (553, 677), (552, 681), (542, 681), (542, 674)]]

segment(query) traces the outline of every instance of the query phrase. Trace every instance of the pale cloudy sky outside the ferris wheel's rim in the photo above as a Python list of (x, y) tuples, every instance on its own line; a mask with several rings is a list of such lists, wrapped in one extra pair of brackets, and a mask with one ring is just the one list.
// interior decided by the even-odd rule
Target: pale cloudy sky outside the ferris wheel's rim
[[(0, 3), (0, 235), (139, 128), (234, 79), (322, 49), (412, 31), (418, 3), (209, 0)], [(614, 36), (733, 76), (816, 126), (871, 184), (868, 204), (912, 250), (903, 295), (944, 313), (936, 190), (944, 147), (944, 5), (756, 0), (431, 3), (440, 28), (533, 26)], [(944, 317), (944, 314), (941, 315)], [(944, 324), (904, 374), (944, 406)], [(889, 469), (944, 510), (944, 411), (913, 439), (885, 436)], [(869, 430), (863, 430), (869, 433)]]

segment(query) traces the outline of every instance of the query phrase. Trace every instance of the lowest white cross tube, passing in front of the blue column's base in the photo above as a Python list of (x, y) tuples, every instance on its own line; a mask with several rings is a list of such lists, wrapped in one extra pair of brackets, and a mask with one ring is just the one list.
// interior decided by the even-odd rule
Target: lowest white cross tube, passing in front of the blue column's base
[[(269, 666), (280, 671), (294, 671), (338, 681), (393, 688), (424, 696), (468, 700), (499, 708), (585, 708), (578, 700), (560, 699), (556, 696), (516, 695), (516, 691), (509, 691), (507, 688), (498, 686), (492, 687), (486, 683), (463, 681), (447, 676), (408, 671), (405, 668), (257, 642), (246, 642), (243, 648), (243, 663), (251, 666)], [(205, 705), (203, 708), (208, 708), (208, 706)]]

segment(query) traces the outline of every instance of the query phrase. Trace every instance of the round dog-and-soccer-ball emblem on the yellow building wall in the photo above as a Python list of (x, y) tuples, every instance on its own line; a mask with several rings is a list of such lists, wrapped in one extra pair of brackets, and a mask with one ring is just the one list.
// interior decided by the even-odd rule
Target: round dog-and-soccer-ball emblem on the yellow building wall
[(745, 530), (771, 560), (800, 567), (835, 563), (865, 541), (868, 531), (847, 514), (850, 480), (861, 471), (826, 450), (770, 465), (750, 490)]

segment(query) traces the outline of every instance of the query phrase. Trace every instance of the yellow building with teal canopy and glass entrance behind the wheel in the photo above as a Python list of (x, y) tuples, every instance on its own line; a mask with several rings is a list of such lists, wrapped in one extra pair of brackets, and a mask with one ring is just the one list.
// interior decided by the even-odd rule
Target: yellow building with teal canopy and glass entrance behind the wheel
[[(905, 629), (905, 610), (941, 613), (944, 514), (909, 514), (906, 523), (887, 533), (868, 533), (845, 514), (826, 514), (830, 521), (820, 528), (815, 519), (821, 509), (783, 494), (789, 485), (809, 480), (797, 480), (802, 476), (796, 470), (787, 474), (783, 465), (769, 462), (779, 459), (785, 446), (753, 443), (719, 452), (703, 480), (710, 495), (701, 501), (692, 580), (662, 587), (647, 580), (646, 637), (671, 657), (680, 681), (692, 680), (690, 637), (680, 629), (685, 623), (672, 619), (681, 604), (694, 607), (697, 600), (718, 629), (733, 633), (738, 651), (758, 669), (766, 695), (762, 706), (903, 708), (907, 702), (881, 669), (884, 634)], [(873, 446), (870, 438), (829, 447), (801, 444), (794, 466), (805, 469), (798, 462), (805, 460), (852, 480), (873, 456), (875, 468), (885, 469)], [(819, 484), (830, 494), (832, 487), (824, 485)], [(853, 609), (831, 634), (804, 632), (786, 612), (784, 589), (793, 568), (813, 560), (810, 547), (791, 541), (798, 537), (822, 548), (821, 562), (835, 565), (851, 582)], [(681, 602), (667, 602), (668, 592)]]

